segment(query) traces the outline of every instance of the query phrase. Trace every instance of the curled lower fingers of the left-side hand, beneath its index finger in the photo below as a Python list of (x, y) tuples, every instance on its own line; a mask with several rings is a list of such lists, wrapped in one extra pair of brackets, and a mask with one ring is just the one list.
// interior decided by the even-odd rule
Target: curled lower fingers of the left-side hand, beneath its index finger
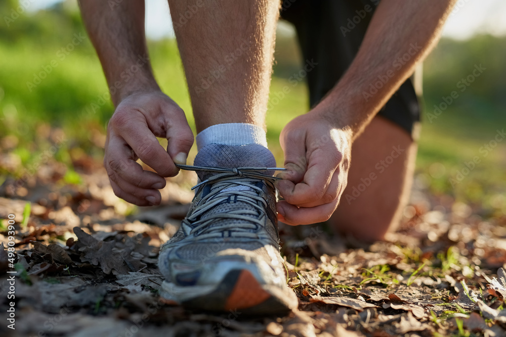
[(104, 165), (116, 196), (139, 206), (158, 205), (158, 189), (166, 184), (158, 174), (145, 171), (135, 162), (134, 154), (126, 142), (111, 135), (106, 147)]

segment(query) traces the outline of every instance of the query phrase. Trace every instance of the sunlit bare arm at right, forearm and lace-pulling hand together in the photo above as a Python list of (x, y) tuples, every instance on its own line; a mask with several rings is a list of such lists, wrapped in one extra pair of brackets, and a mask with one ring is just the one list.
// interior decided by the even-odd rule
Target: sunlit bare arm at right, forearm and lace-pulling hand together
[[(277, 205), (280, 220), (297, 225), (330, 218), (347, 184), (353, 142), (433, 48), (454, 3), (383, 0), (378, 5), (342, 79), (312, 111), (290, 121), (281, 132), (289, 171), (277, 182), (285, 199)], [(406, 53), (409, 60), (394, 68), (395, 60)], [(389, 80), (366, 100), (363, 93), (386, 74)], [(349, 225), (364, 226), (365, 231), (370, 226), (358, 221)]]

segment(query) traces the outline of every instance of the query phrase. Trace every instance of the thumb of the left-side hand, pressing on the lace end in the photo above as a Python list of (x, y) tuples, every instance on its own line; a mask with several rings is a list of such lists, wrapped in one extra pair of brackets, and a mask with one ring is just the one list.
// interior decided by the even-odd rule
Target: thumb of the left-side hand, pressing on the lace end
[[(184, 116), (184, 115), (183, 115)], [(167, 152), (176, 164), (186, 164), (188, 153), (193, 145), (193, 132), (186, 118), (174, 121), (167, 128)]]

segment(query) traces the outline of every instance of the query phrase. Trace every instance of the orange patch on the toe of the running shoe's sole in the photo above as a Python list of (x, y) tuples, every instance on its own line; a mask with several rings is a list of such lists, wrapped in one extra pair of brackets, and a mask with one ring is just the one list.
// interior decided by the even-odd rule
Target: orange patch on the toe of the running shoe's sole
[(271, 294), (263, 290), (255, 276), (248, 270), (242, 270), (237, 278), (234, 290), (225, 303), (225, 310), (251, 308), (270, 297)]

